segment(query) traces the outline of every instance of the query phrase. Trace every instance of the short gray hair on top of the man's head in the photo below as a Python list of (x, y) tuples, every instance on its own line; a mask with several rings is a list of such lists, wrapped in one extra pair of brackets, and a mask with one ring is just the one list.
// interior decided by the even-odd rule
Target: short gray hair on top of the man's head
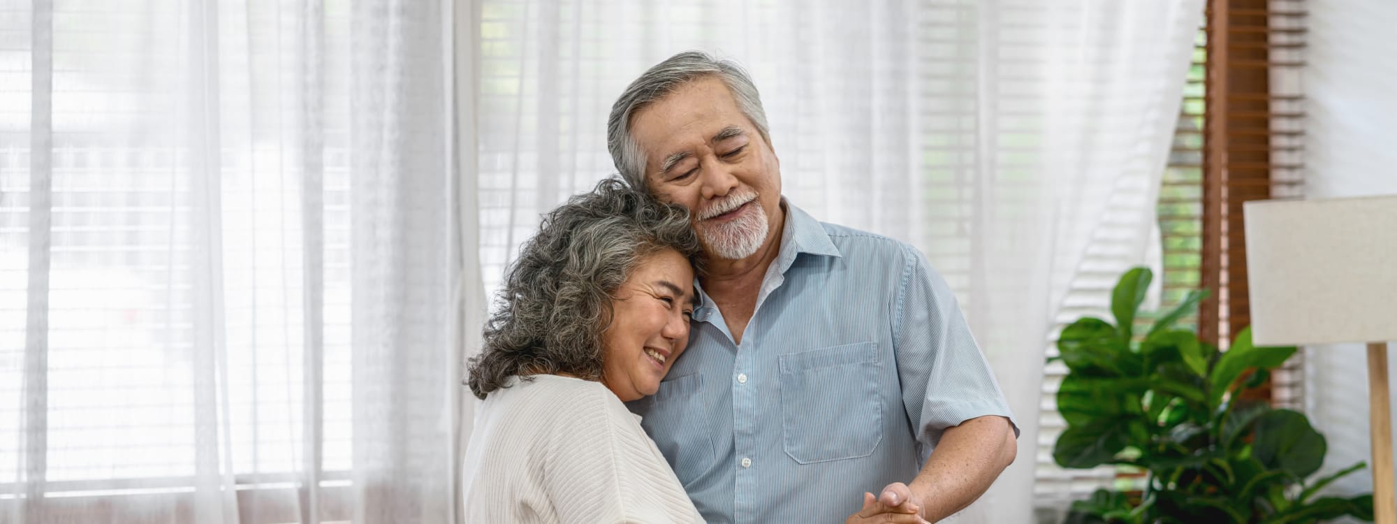
[(612, 105), (610, 117), (606, 119), (606, 148), (610, 150), (616, 169), (631, 187), (647, 189), (645, 154), (630, 134), (630, 117), (685, 84), (707, 77), (722, 80), (742, 115), (757, 127), (761, 140), (766, 140), (767, 145), (771, 144), (767, 113), (761, 109), (761, 96), (747, 73), (731, 60), (719, 60), (696, 50), (683, 52), (655, 64), (630, 82)]

